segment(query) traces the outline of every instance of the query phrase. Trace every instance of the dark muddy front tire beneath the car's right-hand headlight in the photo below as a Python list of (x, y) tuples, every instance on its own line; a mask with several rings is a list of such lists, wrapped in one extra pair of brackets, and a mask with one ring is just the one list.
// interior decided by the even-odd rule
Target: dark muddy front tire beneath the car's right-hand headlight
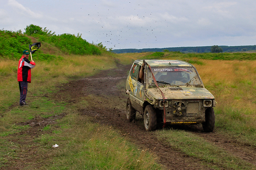
[(212, 107), (205, 110), (205, 122), (202, 123), (205, 132), (212, 132), (215, 126), (215, 115)]

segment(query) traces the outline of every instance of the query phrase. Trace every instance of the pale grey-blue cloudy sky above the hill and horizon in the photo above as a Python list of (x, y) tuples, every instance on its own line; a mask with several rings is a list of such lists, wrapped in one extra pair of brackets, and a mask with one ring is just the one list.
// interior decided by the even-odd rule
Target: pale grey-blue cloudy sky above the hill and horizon
[(0, 29), (82, 33), (107, 48), (256, 45), (255, 0), (1, 0)]

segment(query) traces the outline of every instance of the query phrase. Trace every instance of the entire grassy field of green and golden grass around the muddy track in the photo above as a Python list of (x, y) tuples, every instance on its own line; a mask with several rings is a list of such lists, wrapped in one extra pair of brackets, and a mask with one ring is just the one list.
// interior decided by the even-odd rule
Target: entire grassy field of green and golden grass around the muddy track
[[(29, 127), (17, 125), (37, 116), (50, 117), (59, 113), (67, 115), (58, 121), (58, 127), (46, 126), (41, 136), (26, 144), (38, 147), (38, 153), (48, 155), (38, 161), (41, 169), (161, 169), (158, 159), (151, 152), (140, 151), (111, 127), (91, 123), (81, 117), (74, 106), (67, 103), (48, 101), (44, 94), (55, 92), (55, 86), (80, 77), (97, 73), (99, 70), (115, 68), (116, 63), (131, 64), (135, 59), (158, 58), (180, 59), (194, 64), (206, 88), (215, 96), (216, 133), (236, 137), (241, 144), (256, 148), (256, 61), (255, 53), (232, 54), (181, 54), (165, 52), (162, 56), (152, 53), (110, 54), (100, 56), (62, 55), (52, 62), (39, 61), (32, 69), (32, 83), (28, 85), (29, 108), (20, 108), (17, 82), (17, 60), (0, 62), (0, 168), (4, 163), (15, 160), (22, 151), (21, 144), (10, 143), (6, 137)], [(223, 59), (223, 57), (228, 59)], [(216, 59), (218, 58), (218, 59)], [(246, 59), (246, 60), (245, 60)], [(86, 105), (86, 101), (84, 101)], [(76, 133), (71, 133), (76, 131)], [(52, 133), (47, 133), (52, 132)], [(145, 132), (146, 133), (146, 132)], [(231, 169), (253, 169), (251, 164), (212, 149), (196, 135), (183, 130), (156, 131), (159, 137), (187, 153), (207, 162), (221, 164)], [(49, 150), (52, 140), (61, 141), (63, 149)], [(184, 144), (180, 144), (182, 140)], [(195, 144), (194, 141), (200, 141)], [(29, 141), (29, 139), (28, 139)], [(193, 146), (198, 152), (193, 152)], [(121, 152), (122, 151), (122, 152)], [(111, 154), (109, 154), (111, 153)], [(129, 161), (128, 161), (129, 160)], [(232, 161), (233, 160), (233, 161)], [(15, 162), (14, 162), (15, 163)], [(211, 167), (218, 169), (218, 167)], [(33, 165), (26, 169), (33, 169)]]

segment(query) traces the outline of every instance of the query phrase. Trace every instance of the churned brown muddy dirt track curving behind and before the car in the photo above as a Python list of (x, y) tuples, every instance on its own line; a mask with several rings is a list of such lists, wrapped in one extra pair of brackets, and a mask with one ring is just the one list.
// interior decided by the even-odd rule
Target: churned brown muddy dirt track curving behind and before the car
[[(142, 118), (136, 119), (136, 121), (133, 122), (126, 121), (125, 102), (128, 95), (125, 94), (124, 83), (127, 70), (129, 69), (130, 65), (119, 65), (117, 69), (103, 70), (93, 77), (71, 81), (61, 86), (60, 91), (51, 96), (51, 98), (55, 100), (65, 100), (65, 96), (69, 96), (68, 98), (71, 99), (69, 102), (72, 104), (79, 102), (82, 98), (84, 99), (90, 96), (90, 98), (94, 100), (88, 101), (90, 107), (86, 109), (81, 107), (78, 109), (81, 115), (90, 116), (93, 122), (107, 124), (120, 130), (123, 136), (126, 136), (132, 143), (137, 144), (140, 149), (148, 149), (158, 155), (160, 158), (159, 163), (164, 165), (166, 169), (208, 170), (209, 168), (205, 166), (206, 162), (194, 157), (189, 157), (185, 153), (172, 148), (165, 143), (164, 139), (159, 140), (155, 132), (146, 132)], [(42, 123), (42, 121), (44, 123)], [(27, 136), (37, 136), (40, 133), (38, 129), (40, 129), (40, 127), (42, 128), (42, 124), (46, 126), (50, 123), (52, 122), (47, 123), (47, 120), (42, 119), (24, 122), (24, 124), (29, 124), (33, 128), (31, 134), (29, 134), (29, 130), (26, 132)], [(35, 129), (36, 127), (38, 129)], [(223, 148), (226, 152), (232, 153), (236, 157), (244, 159), (256, 166), (255, 148), (241, 145), (236, 139), (229, 139), (217, 133), (216, 131), (218, 131), (218, 129), (212, 133), (204, 133), (201, 125), (176, 126), (172, 128), (184, 129), (203, 137), (216, 146)], [(33, 150), (28, 152), (28, 154), (31, 153), (33, 153)], [(25, 154), (26, 153), (23, 155), (24, 157), (26, 157)], [(22, 162), (20, 162), (19, 165), (22, 165)], [(40, 165), (36, 166), (40, 167)], [(215, 166), (224, 169), (220, 165)], [(16, 166), (15, 169), (22, 168)]]

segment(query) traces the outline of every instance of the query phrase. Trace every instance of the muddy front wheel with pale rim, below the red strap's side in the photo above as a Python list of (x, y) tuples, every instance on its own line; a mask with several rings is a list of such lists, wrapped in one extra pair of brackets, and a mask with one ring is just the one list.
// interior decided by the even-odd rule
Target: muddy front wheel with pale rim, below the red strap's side
[(155, 109), (151, 106), (148, 105), (145, 108), (144, 111), (144, 126), (147, 131), (155, 130), (156, 129), (156, 111)]

